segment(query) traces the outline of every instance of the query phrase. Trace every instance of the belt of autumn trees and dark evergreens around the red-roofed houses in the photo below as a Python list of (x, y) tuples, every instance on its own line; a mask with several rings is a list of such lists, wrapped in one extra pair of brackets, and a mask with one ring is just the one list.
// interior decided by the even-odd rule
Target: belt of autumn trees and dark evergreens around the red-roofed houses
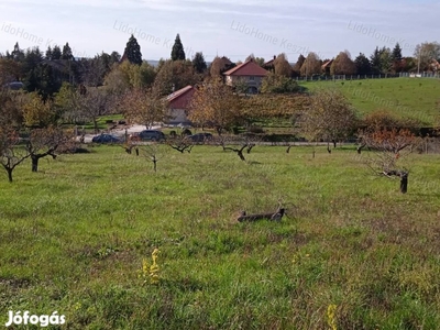
[[(435, 47), (428, 43), (419, 45), (420, 66), (425, 51), (430, 50), (429, 56), (438, 54), (437, 46), (437, 43)], [(397, 69), (403, 61), (399, 54), (398, 45), (393, 52), (376, 48), (371, 59), (361, 54), (359, 57), (363, 59), (358, 62), (365, 67), (369, 64), (371, 69)], [(221, 78), (222, 73), (240, 63), (216, 57), (208, 67), (201, 52), (187, 59), (178, 34), (170, 58), (161, 59), (157, 67), (142, 59), (133, 35), (122, 56), (113, 52), (88, 59), (75, 58), (68, 43), (63, 50), (48, 47), (44, 55), (37, 47), (24, 52), (15, 44), (13, 52), (0, 58), (1, 165), (12, 180), (13, 168), (26, 157), (32, 158), (32, 170), (37, 170), (41, 157), (56, 157), (69, 151), (75, 136), (65, 129), (66, 123), (91, 121), (97, 130), (98, 118), (107, 113), (123, 113), (146, 127), (164, 121), (168, 116), (164, 97), (187, 85), (196, 87), (189, 119), (199, 127), (215, 128), (219, 135), (234, 125), (249, 125), (253, 119), (283, 117), (289, 118), (294, 127), (300, 127), (311, 141), (343, 140), (358, 124), (344, 98), (328, 92), (319, 98), (293, 97), (299, 90), (293, 79), (295, 70), (299, 75), (322, 73), (322, 62), (315, 53), (304, 57), (302, 63), (300, 58), (292, 67), (285, 54), (272, 62), (251, 54), (245, 61), (254, 61), (271, 74), (262, 84), (263, 95), (250, 98), (241, 81), (229, 87)], [(350, 54), (342, 52), (331, 63), (330, 72), (353, 68), (350, 61)], [(13, 80), (22, 81), (24, 90), (11, 90), (9, 84)], [(24, 148), (18, 148), (23, 131), (29, 139)]]

